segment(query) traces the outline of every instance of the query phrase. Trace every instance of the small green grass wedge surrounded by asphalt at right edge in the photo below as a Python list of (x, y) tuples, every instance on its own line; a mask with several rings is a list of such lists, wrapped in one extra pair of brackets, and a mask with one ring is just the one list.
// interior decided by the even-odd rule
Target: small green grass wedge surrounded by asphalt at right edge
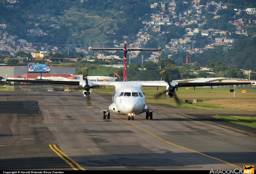
[(212, 116), (212, 117), (229, 121), (232, 123), (237, 123), (239, 125), (256, 128), (256, 117), (239, 117), (239, 116)]

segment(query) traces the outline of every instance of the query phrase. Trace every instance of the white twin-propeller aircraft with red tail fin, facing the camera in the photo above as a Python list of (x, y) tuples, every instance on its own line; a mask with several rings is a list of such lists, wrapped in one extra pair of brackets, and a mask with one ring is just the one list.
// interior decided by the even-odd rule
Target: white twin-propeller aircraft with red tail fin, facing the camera
[[(153, 112), (146, 106), (146, 99), (142, 93), (142, 87), (166, 87), (166, 93), (169, 98), (175, 98), (176, 102), (179, 100), (175, 94), (178, 91), (178, 87), (196, 87), (196, 86), (220, 86), (220, 85), (241, 85), (241, 84), (254, 84), (253, 82), (206, 82), (206, 83), (174, 83), (170, 82), (166, 76), (165, 70), (161, 71), (163, 79), (166, 81), (127, 81), (127, 71), (126, 71), (126, 55), (127, 51), (161, 51), (158, 49), (141, 49), (141, 48), (127, 48), (127, 43), (124, 42), (124, 48), (92, 48), (89, 50), (97, 51), (123, 51), (124, 53), (124, 81), (123, 82), (110, 82), (110, 81), (87, 81), (87, 68), (83, 68), (83, 81), (55, 81), (55, 80), (11, 80), (3, 79), (7, 82), (27, 82), (27, 83), (44, 83), (44, 84), (58, 84), (58, 85), (76, 85), (83, 88), (82, 92), (85, 97), (87, 97), (87, 107), (92, 107), (90, 102), (90, 94), (92, 88), (99, 88), (100, 86), (114, 86), (115, 91), (113, 93), (112, 101), (113, 103), (106, 109), (103, 110), (103, 119), (106, 117), (110, 118), (110, 112), (120, 115), (126, 115), (128, 120), (134, 120), (134, 117), (138, 114), (146, 112), (146, 119), (153, 118)], [(100, 111), (102, 112), (102, 111)], [(99, 112), (99, 113), (100, 113)], [(98, 114), (98, 113), (97, 113)]]

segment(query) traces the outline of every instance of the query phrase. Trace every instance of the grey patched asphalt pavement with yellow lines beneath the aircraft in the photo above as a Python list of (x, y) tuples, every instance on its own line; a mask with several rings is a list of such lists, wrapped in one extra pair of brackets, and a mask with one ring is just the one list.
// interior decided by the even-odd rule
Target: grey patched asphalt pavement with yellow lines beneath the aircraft
[[(53, 87), (54, 88), (54, 87)], [(0, 170), (210, 170), (256, 163), (256, 129), (207, 115), (254, 112), (149, 104), (132, 121), (95, 115), (111, 96), (36, 87), (0, 91)]]

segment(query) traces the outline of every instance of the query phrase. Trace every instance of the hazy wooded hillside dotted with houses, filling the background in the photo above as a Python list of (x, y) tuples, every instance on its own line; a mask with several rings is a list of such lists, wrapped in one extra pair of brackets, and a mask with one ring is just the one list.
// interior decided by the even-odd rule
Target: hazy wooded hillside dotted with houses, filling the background
[[(224, 62), (227, 67), (255, 69), (256, 66), (254, 1), (45, 2), (35, 13), (36, 6), (43, 2), (0, 1), (0, 13), (4, 16), (0, 21), (2, 55), (15, 56), (24, 52), (31, 53), (32, 57), (43, 53), (37, 60), (44, 56), (48, 56), (45, 60), (50, 60), (54, 53), (58, 53), (59, 58), (68, 55), (83, 60), (98, 55), (122, 58), (119, 52), (92, 52), (88, 47), (122, 47), (125, 40), (133, 48), (162, 47), (161, 53), (130, 52), (130, 62), (136, 64), (157, 63), (169, 58), (177, 66), (195, 62), (206, 66), (210, 59)], [(97, 11), (99, 4), (100, 11)], [(10, 14), (6, 11), (32, 6), (35, 10), (26, 11), (20, 17), (17, 16), (20, 12)], [(85, 16), (81, 13), (78, 16), (79, 11)], [(109, 16), (103, 18), (106, 14)], [(88, 21), (89, 17), (93, 20), (88, 23), (78, 22), (78, 19)], [(116, 58), (116, 61), (120, 60)]]

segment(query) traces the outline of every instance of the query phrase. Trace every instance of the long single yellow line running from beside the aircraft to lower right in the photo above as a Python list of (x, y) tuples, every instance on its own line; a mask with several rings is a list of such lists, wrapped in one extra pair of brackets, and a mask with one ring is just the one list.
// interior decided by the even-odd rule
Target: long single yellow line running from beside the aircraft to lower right
[[(95, 104), (94, 104), (94, 105), (95, 105)], [(103, 110), (103, 108), (101, 108), (100, 106), (98, 106), (98, 105), (95, 105), (95, 106), (97, 106), (97, 107), (99, 107), (100, 109)], [(111, 114), (111, 115), (113, 115), (113, 114)], [(118, 116), (115, 116), (115, 115), (113, 115), (113, 116), (116, 117), (116, 118), (119, 118)], [(229, 164), (229, 165), (234, 166), (234, 167), (241, 168), (241, 167), (236, 166), (236, 165), (234, 165), (234, 164), (231, 164), (231, 163), (229, 163), (229, 162), (227, 162), (227, 161), (223, 161), (223, 160), (218, 159), (218, 158), (215, 158), (215, 157), (213, 157), (213, 156), (209, 156), (209, 155), (206, 155), (206, 154), (203, 154), (203, 153), (194, 151), (194, 150), (192, 150), (192, 149), (189, 149), (189, 148), (186, 148), (186, 147), (182, 147), (182, 146), (179, 146), (179, 145), (177, 145), (177, 144), (174, 144), (174, 143), (171, 143), (171, 142), (169, 142), (169, 141), (166, 141), (165, 139), (161, 138), (160, 136), (157, 136), (157, 135), (155, 135), (155, 134), (153, 134), (153, 133), (151, 133), (151, 132), (149, 132), (149, 131), (147, 131), (147, 130), (145, 130), (145, 129), (142, 129), (142, 128), (140, 128), (140, 127), (138, 127), (138, 126), (136, 126), (136, 125), (134, 125), (134, 124), (132, 124), (132, 123), (130, 123), (130, 122), (128, 122), (128, 121), (122, 119), (122, 118), (119, 118), (119, 119), (125, 121), (126, 123), (128, 123), (128, 124), (130, 124), (130, 125), (132, 125), (132, 126), (134, 126), (134, 127), (136, 127), (136, 128), (138, 128), (138, 129), (140, 129), (140, 130), (142, 130), (142, 131), (144, 131), (144, 132), (147, 132), (147, 133), (149, 133), (149, 134), (155, 136), (156, 138), (159, 138), (160, 140), (162, 140), (162, 141), (164, 141), (164, 142), (166, 142), (166, 143), (168, 143), (168, 144), (171, 144), (171, 145), (174, 145), (174, 146), (176, 146), (176, 147), (180, 147), (180, 148), (189, 150), (189, 151), (191, 151), (191, 152), (195, 152), (195, 153), (198, 153), (198, 154), (207, 156), (207, 157), (209, 157), (209, 158), (213, 158), (213, 159), (219, 160), (219, 161), (221, 161), (221, 162), (223, 162), (223, 163)]]

